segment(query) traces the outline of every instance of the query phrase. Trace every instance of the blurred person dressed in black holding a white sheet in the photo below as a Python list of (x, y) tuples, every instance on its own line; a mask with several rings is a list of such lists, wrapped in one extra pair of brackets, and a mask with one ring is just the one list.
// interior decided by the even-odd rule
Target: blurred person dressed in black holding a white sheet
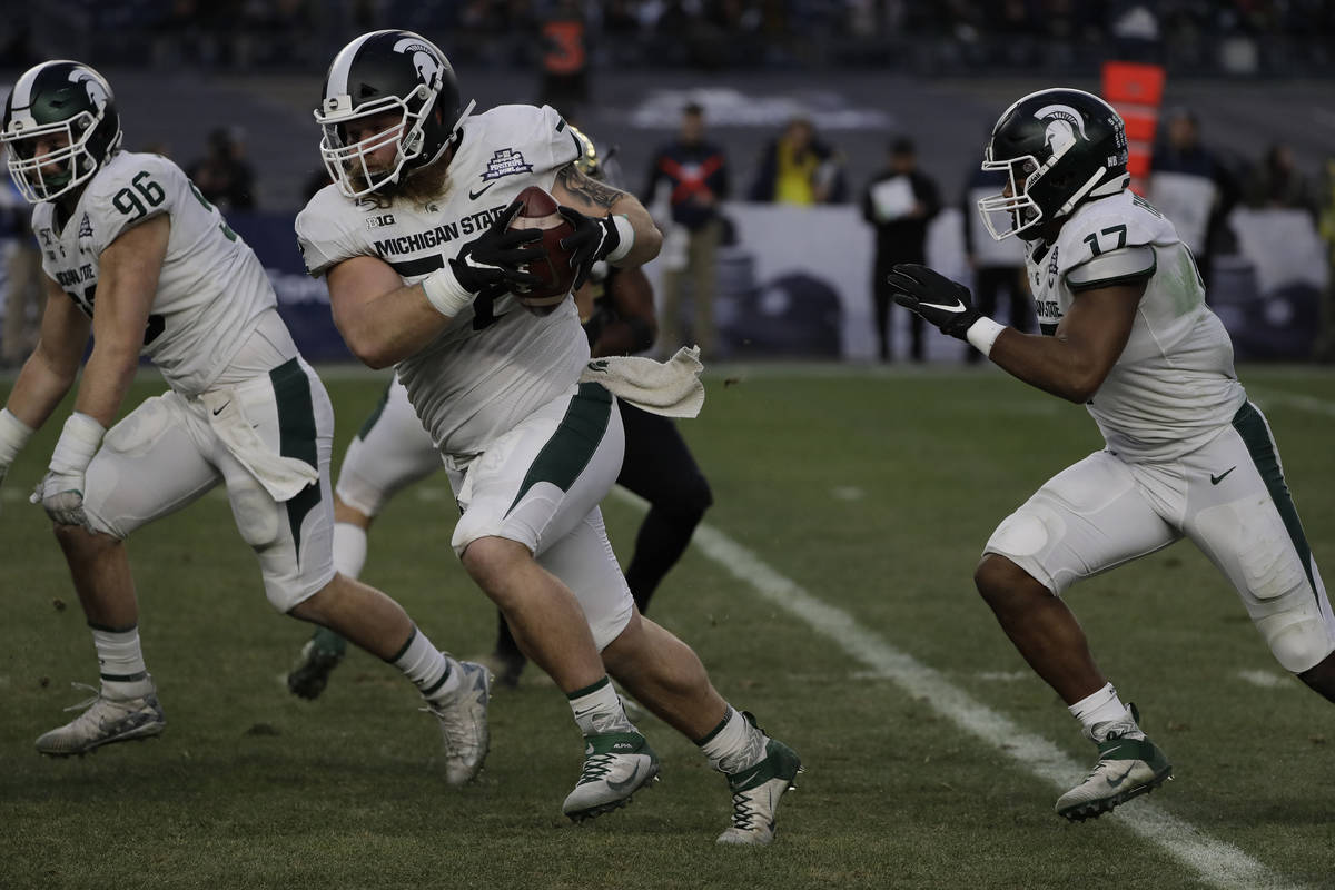
[[(881, 342), (881, 362), (894, 358), (890, 304), (893, 291), (886, 275), (896, 263), (926, 263), (926, 226), (941, 209), (940, 191), (930, 176), (917, 168), (917, 149), (910, 139), (890, 143), (889, 161), (862, 191), (862, 219), (876, 227), (876, 262), (872, 294), (876, 298), (876, 334)], [(921, 362), (922, 319), (909, 312), (910, 358)]]

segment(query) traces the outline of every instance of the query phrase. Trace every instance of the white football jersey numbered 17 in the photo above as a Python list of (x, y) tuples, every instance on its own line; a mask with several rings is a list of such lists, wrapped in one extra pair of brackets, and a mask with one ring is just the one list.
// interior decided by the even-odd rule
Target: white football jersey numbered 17
[[(1029, 252), (1029, 283), (1039, 324), (1053, 334), (1079, 290), (1116, 283), (1089, 280), (1080, 267), (1140, 246), (1153, 250), (1153, 274), (1131, 338), (1088, 408), (1111, 451), (1128, 460), (1164, 460), (1216, 436), (1247, 400), (1232, 342), (1206, 306), (1196, 263), (1172, 223), (1129, 191), (1088, 201), (1055, 244)], [(1072, 274), (1084, 279), (1076, 290)]]

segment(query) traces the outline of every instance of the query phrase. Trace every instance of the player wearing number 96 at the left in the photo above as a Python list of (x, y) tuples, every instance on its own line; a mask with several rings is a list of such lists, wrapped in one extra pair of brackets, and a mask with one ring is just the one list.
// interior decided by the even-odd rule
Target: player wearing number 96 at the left
[[(73, 386), (89, 330), (95, 338), (32, 502), (55, 522), (101, 686), (37, 750), (81, 755), (163, 731), (124, 539), (222, 483), (274, 607), (403, 671), (441, 721), (447, 781), (471, 779), (487, 747), (486, 669), (437, 651), (398, 603), (334, 571), (334, 416), (255, 254), (179, 167), (120, 151), (111, 87), (88, 65), (47, 61), (20, 76), (0, 140), (36, 204), (49, 296), (0, 411), (0, 476)], [(140, 354), (171, 388), (108, 431)]]

